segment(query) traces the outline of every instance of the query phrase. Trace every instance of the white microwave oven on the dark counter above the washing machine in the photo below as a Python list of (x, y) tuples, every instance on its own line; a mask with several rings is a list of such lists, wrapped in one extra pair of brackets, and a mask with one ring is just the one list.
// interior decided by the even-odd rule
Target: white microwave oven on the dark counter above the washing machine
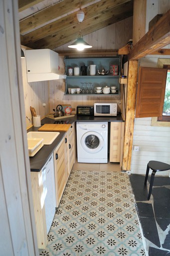
[(94, 115), (116, 116), (117, 103), (94, 103)]

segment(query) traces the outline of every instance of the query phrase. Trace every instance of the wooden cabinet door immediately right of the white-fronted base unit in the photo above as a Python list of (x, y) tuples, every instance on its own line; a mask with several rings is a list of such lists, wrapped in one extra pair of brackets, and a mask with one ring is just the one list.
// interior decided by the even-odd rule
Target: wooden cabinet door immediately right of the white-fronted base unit
[(65, 179), (65, 141), (62, 139), (60, 144), (54, 150), (54, 172), (56, 205), (58, 207), (66, 184)]

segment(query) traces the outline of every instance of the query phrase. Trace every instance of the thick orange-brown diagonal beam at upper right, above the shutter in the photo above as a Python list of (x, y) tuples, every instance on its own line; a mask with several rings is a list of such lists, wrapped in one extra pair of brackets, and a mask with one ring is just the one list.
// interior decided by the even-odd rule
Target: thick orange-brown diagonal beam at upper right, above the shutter
[(170, 44), (170, 10), (135, 44), (128, 60), (137, 60)]

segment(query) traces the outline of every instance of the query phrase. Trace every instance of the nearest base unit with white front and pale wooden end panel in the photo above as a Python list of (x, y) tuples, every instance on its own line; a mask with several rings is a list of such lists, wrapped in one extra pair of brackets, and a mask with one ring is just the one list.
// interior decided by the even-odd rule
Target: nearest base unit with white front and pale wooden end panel
[(53, 154), (39, 172), (31, 171), (32, 197), (38, 248), (47, 245), (47, 234), (55, 214)]

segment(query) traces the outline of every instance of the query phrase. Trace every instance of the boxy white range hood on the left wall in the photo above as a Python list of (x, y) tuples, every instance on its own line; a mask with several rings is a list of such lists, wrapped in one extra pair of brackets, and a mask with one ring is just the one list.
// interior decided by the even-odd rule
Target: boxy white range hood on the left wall
[(26, 50), (27, 81), (65, 79), (60, 73), (58, 53), (50, 49)]

